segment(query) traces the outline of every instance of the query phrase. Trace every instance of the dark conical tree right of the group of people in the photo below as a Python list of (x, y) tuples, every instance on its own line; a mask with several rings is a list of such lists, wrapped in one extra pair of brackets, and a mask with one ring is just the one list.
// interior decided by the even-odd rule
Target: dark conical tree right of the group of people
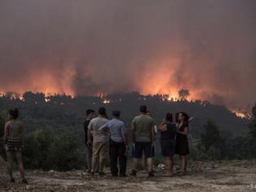
[(224, 139), (220, 136), (220, 131), (212, 120), (208, 120), (204, 125), (205, 131), (201, 135), (202, 146), (206, 150), (214, 149), (214, 151), (220, 151), (220, 155), (223, 155), (225, 149)]

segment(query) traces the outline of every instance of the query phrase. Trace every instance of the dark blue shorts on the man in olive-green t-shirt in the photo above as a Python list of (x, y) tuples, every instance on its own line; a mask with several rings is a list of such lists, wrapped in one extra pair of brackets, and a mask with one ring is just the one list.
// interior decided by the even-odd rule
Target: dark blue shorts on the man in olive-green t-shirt
[(154, 146), (152, 142), (134, 142), (133, 158), (140, 159), (143, 153), (146, 158), (154, 157)]

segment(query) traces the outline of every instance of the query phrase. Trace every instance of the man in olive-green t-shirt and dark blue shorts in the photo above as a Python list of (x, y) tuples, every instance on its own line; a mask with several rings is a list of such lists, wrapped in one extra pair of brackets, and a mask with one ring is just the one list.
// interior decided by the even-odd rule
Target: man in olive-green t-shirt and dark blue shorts
[(133, 170), (131, 176), (137, 175), (138, 159), (143, 153), (147, 159), (148, 176), (154, 177), (153, 157), (154, 157), (154, 120), (147, 115), (147, 106), (140, 106), (140, 115), (132, 122), (133, 133)]

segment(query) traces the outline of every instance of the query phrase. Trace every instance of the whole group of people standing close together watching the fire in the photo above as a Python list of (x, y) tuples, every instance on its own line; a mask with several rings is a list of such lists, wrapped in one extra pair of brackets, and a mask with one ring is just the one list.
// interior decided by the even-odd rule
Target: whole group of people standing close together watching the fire
[[(110, 170), (113, 177), (126, 177), (126, 161), (129, 151), (128, 129), (120, 120), (120, 111), (112, 111), (109, 120), (106, 108), (99, 108), (98, 116), (95, 111), (88, 109), (84, 124), (85, 146), (87, 149), (88, 173), (105, 175), (103, 169), (109, 156)], [(133, 118), (131, 123), (133, 170), (131, 176), (137, 175), (138, 160), (143, 157), (147, 162), (148, 176), (154, 177), (153, 158), (154, 142), (157, 132), (161, 134), (161, 154), (167, 166), (167, 176), (173, 176), (174, 155), (181, 160), (180, 174), (186, 173), (189, 154), (189, 115), (180, 112), (175, 115), (175, 122), (171, 113), (167, 113), (157, 129), (153, 118), (150, 117), (146, 105), (140, 106), (140, 115)]]

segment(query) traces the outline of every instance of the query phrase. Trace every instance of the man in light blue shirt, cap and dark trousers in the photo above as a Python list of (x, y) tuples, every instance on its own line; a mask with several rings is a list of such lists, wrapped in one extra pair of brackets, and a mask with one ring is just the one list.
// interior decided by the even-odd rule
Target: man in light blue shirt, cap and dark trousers
[[(126, 177), (126, 149), (127, 145), (127, 130), (124, 122), (119, 120), (120, 111), (112, 111), (113, 118), (106, 125), (103, 125), (100, 130), (110, 133), (109, 139), (109, 159), (110, 169), (113, 177)], [(117, 167), (119, 163), (119, 169)]]

